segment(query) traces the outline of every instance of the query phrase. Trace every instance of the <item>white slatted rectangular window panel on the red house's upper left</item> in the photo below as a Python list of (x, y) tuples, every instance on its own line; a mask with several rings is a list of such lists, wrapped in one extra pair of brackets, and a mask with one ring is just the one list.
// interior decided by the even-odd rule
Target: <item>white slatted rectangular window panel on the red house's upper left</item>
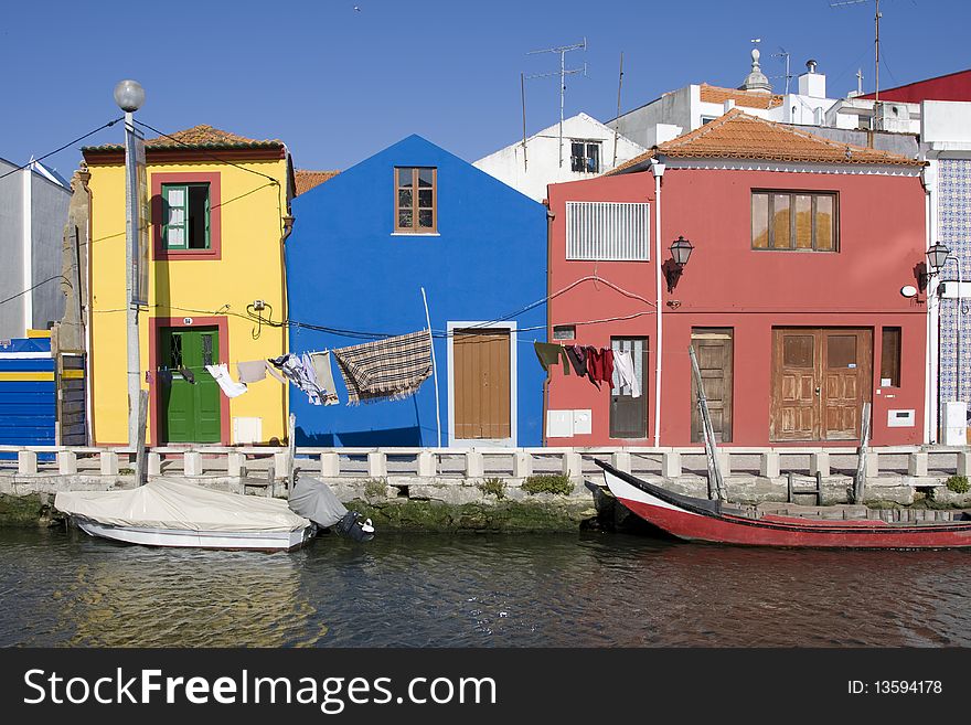
[(648, 262), (650, 204), (566, 202), (566, 258)]

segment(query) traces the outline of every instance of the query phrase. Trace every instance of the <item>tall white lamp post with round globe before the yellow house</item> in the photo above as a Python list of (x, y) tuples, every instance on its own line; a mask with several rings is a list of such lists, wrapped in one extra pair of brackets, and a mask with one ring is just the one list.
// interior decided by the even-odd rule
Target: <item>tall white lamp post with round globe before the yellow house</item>
[(136, 154), (140, 138), (135, 131), (135, 111), (145, 103), (145, 89), (137, 81), (121, 81), (115, 86), (115, 103), (125, 111), (125, 275), (126, 329), (128, 334), (128, 445), (138, 445), (138, 397), (141, 361), (138, 345), (139, 178)]

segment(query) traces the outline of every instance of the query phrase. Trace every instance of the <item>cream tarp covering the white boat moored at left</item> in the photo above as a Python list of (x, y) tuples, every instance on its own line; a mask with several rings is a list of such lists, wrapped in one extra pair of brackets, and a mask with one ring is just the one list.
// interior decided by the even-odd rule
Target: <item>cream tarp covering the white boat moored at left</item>
[(269, 532), (310, 525), (281, 499), (213, 491), (171, 478), (125, 491), (60, 492), (54, 508), (111, 526)]

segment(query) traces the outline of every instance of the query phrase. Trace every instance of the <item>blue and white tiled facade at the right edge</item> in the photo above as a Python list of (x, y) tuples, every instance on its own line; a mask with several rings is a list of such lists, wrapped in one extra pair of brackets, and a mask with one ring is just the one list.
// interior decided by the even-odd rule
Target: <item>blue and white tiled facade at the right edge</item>
[[(971, 159), (941, 159), (938, 241), (954, 259), (941, 279), (971, 278)], [(960, 330), (960, 334), (959, 334)], [(940, 405), (971, 401), (971, 299), (940, 300)]]

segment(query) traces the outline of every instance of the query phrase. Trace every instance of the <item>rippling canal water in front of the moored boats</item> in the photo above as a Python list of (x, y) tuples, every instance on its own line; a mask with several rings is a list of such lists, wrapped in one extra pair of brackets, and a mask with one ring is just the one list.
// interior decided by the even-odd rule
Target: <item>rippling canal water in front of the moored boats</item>
[(322, 536), (292, 554), (0, 530), (0, 646), (971, 646), (971, 552), (643, 535)]

